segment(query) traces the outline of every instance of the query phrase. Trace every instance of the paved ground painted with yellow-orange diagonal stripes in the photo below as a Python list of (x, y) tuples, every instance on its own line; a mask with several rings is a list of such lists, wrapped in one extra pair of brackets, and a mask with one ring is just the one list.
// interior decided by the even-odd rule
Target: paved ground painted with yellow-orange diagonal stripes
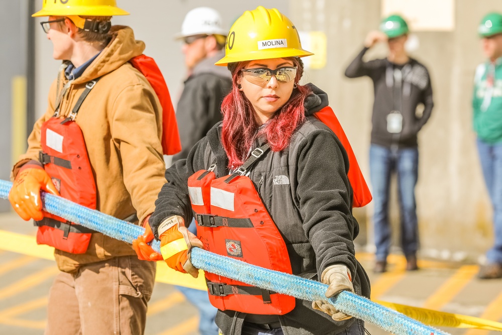
[[(29, 222), (9, 213), (0, 214), (0, 240), (2, 234), (7, 234), (2, 233), (5, 231), (26, 236), (35, 234)], [(0, 334), (43, 334), (47, 293), (57, 273), (55, 263), (36, 257), (42, 257), (36, 250), (22, 254), (5, 249), (0, 244)], [(357, 257), (370, 275), (372, 300), (502, 321), (502, 280), (477, 280), (476, 265), (423, 260), (419, 262), (421, 270), (406, 272), (404, 259), (392, 256), (390, 271), (374, 275), (370, 271), (372, 256), (361, 253)], [(197, 327), (196, 309), (172, 285), (157, 283), (149, 306), (146, 333), (195, 335)], [(371, 324), (366, 324), (366, 328), (371, 335), (387, 333)], [(454, 335), (488, 334), (484, 330), (440, 328)]]

